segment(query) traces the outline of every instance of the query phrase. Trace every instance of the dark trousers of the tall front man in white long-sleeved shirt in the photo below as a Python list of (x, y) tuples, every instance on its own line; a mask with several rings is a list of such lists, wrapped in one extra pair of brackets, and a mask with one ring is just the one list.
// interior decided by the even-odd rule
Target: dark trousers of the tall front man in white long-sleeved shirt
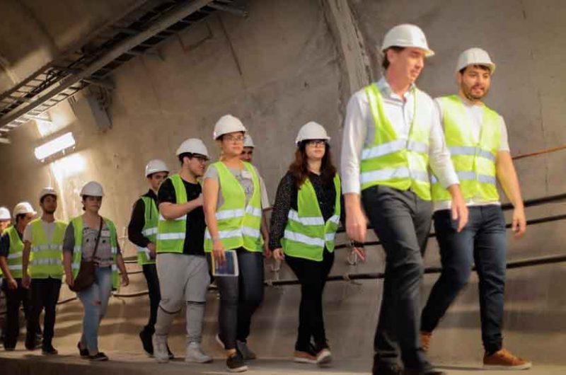
[(422, 253), (432, 221), (431, 203), (415, 193), (386, 186), (362, 192), (366, 214), (386, 253), (383, 296), (374, 339), (374, 368), (397, 364), (398, 348), (406, 368), (429, 366), (420, 349)]

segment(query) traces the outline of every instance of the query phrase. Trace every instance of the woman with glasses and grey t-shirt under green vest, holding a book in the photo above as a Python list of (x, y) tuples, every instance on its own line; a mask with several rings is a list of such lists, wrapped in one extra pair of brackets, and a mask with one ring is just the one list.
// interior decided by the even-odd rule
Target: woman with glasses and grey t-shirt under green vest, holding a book
[[(251, 318), (263, 299), (261, 188), (259, 173), (240, 160), (246, 128), (225, 115), (214, 126), (221, 158), (204, 174), (204, 251), (211, 262), (222, 264), (226, 250), (235, 250), (238, 277), (216, 277), (220, 292), (219, 335), (229, 371), (246, 371), (245, 360), (255, 359), (246, 340)], [(237, 349), (237, 350), (236, 350)]]

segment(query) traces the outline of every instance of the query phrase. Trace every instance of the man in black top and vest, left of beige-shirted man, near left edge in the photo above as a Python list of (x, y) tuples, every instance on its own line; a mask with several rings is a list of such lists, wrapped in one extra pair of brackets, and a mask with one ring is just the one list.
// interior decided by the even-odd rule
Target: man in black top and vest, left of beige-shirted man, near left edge
[(6, 333), (4, 334), (4, 349), (12, 351), (16, 349), (18, 335), (20, 333), (19, 312), (23, 304), (23, 311), (28, 324), (26, 346), (28, 341), (33, 342), (35, 347), (35, 330), (30, 326), (29, 317), (29, 290), (23, 287), (23, 231), (25, 226), (35, 217), (36, 212), (28, 202), (20, 202), (13, 209), (16, 224), (8, 227), (0, 237), (0, 268), (4, 273), (5, 282), (2, 285), (6, 294)]

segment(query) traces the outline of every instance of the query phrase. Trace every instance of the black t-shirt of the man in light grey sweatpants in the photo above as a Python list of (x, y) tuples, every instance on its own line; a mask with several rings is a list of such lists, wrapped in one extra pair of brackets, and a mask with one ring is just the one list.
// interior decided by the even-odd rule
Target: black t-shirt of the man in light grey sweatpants
[[(197, 199), (202, 188), (199, 183), (187, 183), (183, 180), (185, 190), (187, 192), (187, 202)], [(177, 203), (175, 188), (170, 179), (163, 181), (157, 193), (157, 202)], [(183, 246), (183, 254), (187, 255), (204, 255), (204, 230), (207, 224), (204, 221), (204, 210), (197, 207), (187, 214), (187, 228), (185, 229), (185, 245)]]

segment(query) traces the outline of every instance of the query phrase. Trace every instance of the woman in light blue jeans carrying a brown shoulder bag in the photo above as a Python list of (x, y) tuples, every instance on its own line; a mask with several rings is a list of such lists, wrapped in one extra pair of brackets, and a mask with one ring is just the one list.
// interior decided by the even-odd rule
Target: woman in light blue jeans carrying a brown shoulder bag
[(63, 241), (65, 282), (69, 287), (73, 287), (79, 274), (81, 260), (93, 260), (96, 265), (94, 283), (77, 292), (84, 308), (83, 332), (77, 347), (81, 357), (91, 361), (108, 361), (108, 357), (98, 351), (98, 327), (108, 308), (112, 289), (120, 286), (120, 275), (122, 286), (129, 284), (116, 227), (112, 221), (98, 214), (103, 196), (100, 183), (91, 181), (83, 186), (84, 213), (71, 220)]

